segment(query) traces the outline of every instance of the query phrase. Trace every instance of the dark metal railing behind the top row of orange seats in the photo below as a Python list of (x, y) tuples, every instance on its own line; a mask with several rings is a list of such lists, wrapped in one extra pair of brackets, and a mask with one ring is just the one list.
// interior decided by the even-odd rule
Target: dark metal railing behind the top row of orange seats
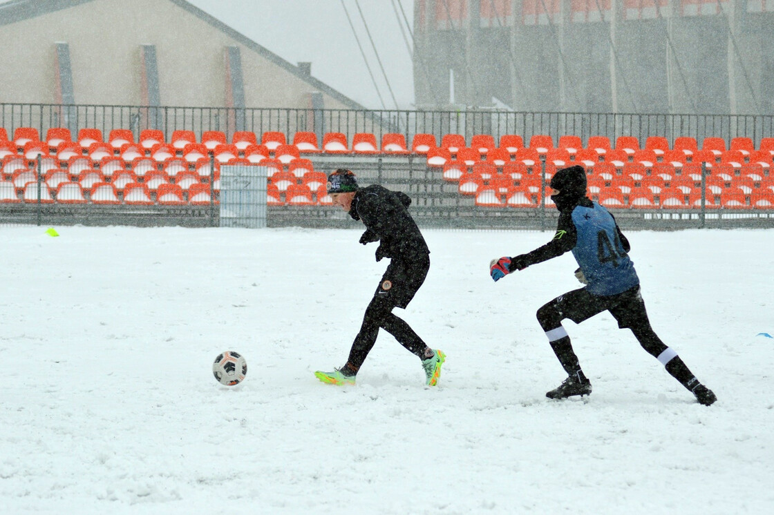
[(411, 138), (429, 133), (437, 141), (446, 134), (470, 138), (487, 134), (498, 140), (506, 134), (521, 135), (525, 142), (533, 135), (577, 135), (583, 142), (590, 136), (615, 138), (630, 135), (641, 142), (649, 136), (663, 136), (670, 142), (679, 136), (704, 138), (774, 137), (774, 116), (750, 114), (611, 114), (611, 113), (519, 113), (512, 111), (357, 111), (348, 109), (279, 109), (227, 107), (145, 107), (114, 105), (0, 104), (0, 127), (13, 134), (16, 128), (36, 128), (45, 138), (50, 128), (69, 128), (73, 135), (82, 128), (98, 128), (105, 138), (113, 129), (131, 129), (135, 138), (147, 128), (164, 131), (222, 131), (231, 141), (235, 131), (281, 131), (292, 139), (297, 131), (313, 131), (322, 139), (326, 132), (343, 132), (349, 141), (357, 132), (370, 132), (378, 140), (387, 132)]

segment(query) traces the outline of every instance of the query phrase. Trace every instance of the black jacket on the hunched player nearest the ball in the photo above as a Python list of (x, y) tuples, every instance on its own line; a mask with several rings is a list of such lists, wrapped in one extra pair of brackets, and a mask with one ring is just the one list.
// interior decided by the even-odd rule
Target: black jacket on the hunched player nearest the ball
[(361, 244), (380, 242), (376, 261), (382, 257), (413, 257), (430, 254), (419, 227), (407, 209), (411, 199), (406, 193), (391, 191), (378, 184), (358, 189), (349, 215), (366, 227)]

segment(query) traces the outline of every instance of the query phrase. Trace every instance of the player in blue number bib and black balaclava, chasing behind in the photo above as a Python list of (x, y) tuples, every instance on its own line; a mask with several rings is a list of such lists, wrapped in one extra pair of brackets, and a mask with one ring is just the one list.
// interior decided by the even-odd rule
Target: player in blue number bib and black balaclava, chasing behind
[(553, 240), (527, 254), (492, 260), (490, 275), (495, 281), (512, 271), (541, 263), (572, 251), (580, 268), (575, 276), (586, 286), (554, 298), (537, 311), (540, 326), (559, 358), (566, 380), (546, 393), (552, 399), (591, 394), (591, 382), (580, 370), (563, 319), (580, 323), (607, 310), (621, 329), (632, 329), (642, 348), (656, 357), (683, 387), (709, 406), (717, 400), (671, 347), (666, 346), (650, 326), (645, 302), (639, 291), (639, 278), (628, 257), (629, 242), (613, 216), (586, 196), (586, 172), (581, 166), (561, 169), (551, 179), (551, 200), (560, 212)]

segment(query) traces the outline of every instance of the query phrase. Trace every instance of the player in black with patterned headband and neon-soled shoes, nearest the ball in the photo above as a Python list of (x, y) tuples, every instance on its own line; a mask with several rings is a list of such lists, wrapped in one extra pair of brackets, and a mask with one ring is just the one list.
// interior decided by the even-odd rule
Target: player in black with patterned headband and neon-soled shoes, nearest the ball
[(361, 244), (379, 242), (376, 261), (388, 257), (382, 281), (374, 298), (365, 309), (360, 333), (355, 337), (344, 367), (333, 372), (314, 373), (328, 384), (354, 384), (365, 357), (371, 351), (379, 328), (395, 336), (411, 353), (419, 356), (426, 374), (426, 384), (435, 386), (446, 356), (432, 350), (414, 333), (409, 324), (392, 314), (392, 309), (406, 308), (420, 289), (430, 269), (430, 250), (407, 210), (411, 199), (406, 193), (382, 186), (358, 187), (354, 173), (337, 169), (328, 177), (327, 191), (334, 204), (341, 206), (354, 220), (365, 224)]

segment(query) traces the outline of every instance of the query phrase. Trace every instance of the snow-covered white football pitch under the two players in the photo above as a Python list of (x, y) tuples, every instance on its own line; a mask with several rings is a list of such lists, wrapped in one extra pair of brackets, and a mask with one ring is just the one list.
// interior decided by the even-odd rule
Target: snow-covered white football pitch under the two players
[(385, 268), (359, 230), (45, 229), (0, 227), (0, 513), (774, 513), (774, 230), (627, 232), (706, 408), (606, 313), (565, 323), (594, 393), (546, 399), (574, 260), (488, 263), (548, 232), (425, 231), (397, 312), (447, 353), (431, 389), (385, 333), (357, 386), (313, 377)]

